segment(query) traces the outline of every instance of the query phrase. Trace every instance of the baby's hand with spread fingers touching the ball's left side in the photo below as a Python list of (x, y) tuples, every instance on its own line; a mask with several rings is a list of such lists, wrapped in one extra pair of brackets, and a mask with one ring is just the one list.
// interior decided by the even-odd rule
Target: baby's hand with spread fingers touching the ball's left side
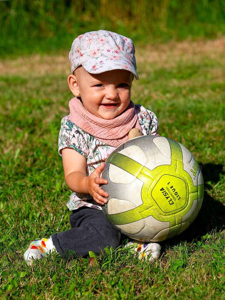
[[(102, 163), (98, 168), (95, 169), (90, 176), (87, 177), (86, 189), (88, 193), (94, 198), (95, 202), (99, 204), (105, 204), (107, 200), (104, 197), (108, 197), (103, 189), (101, 189), (100, 184), (107, 184), (108, 180), (100, 178), (100, 174), (105, 166), (105, 163)], [(104, 196), (104, 197), (103, 197)]]

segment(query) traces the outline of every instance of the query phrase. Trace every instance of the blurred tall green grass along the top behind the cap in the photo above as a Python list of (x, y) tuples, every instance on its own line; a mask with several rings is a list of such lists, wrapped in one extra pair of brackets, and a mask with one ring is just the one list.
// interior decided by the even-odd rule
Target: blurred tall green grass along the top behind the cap
[(98, 29), (139, 44), (216, 38), (225, 33), (225, 0), (0, 1), (0, 28), (1, 56), (69, 49)]

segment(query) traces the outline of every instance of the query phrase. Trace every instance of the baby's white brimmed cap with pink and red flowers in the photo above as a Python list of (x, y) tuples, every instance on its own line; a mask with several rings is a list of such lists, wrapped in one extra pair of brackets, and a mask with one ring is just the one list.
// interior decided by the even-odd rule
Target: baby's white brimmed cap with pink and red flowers
[(71, 73), (82, 65), (88, 73), (98, 74), (122, 69), (138, 80), (132, 40), (116, 32), (98, 30), (79, 35), (69, 53)]

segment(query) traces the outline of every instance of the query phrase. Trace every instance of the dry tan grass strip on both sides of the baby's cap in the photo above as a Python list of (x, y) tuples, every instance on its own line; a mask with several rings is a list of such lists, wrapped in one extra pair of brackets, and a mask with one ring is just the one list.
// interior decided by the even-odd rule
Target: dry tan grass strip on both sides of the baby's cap
[[(168, 44), (155, 44), (146, 47), (137, 46), (136, 57), (138, 68), (141, 66), (152, 68), (175, 66), (179, 61), (191, 61), (197, 63), (202, 57), (209, 59), (221, 59), (225, 61), (224, 56), (225, 37), (209, 41), (183, 41)], [(68, 51), (52, 55), (34, 54), (26, 57), (19, 57), (15, 60), (0, 60), (0, 75), (43, 76), (47, 74), (65, 74), (70, 73), (70, 64)], [(142, 73), (144, 78), (147, 74)]]

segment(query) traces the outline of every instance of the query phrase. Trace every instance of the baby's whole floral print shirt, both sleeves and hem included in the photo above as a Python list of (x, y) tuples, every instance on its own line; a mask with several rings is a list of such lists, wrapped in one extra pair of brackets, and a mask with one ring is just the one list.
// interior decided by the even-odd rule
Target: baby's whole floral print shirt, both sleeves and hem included
[[(136, 104), (135, 109), (144, 135), (157, 134), (158, 120), (154, 113), (142, 105)], [(58, 153), (64, 148), (72, 148), (86, 158), (86, 174), (89, 176), (107, 157), (116, 149), (104, 142), (97, 140), (91, 134), (83, 131), (70, 121), (69, 116), (61, 120), (61, 129), (58, 137)], [(69, 210), (75, 210), (82, 206), (101, 209), (90, 194), (73, 192), (67, 202)]]

